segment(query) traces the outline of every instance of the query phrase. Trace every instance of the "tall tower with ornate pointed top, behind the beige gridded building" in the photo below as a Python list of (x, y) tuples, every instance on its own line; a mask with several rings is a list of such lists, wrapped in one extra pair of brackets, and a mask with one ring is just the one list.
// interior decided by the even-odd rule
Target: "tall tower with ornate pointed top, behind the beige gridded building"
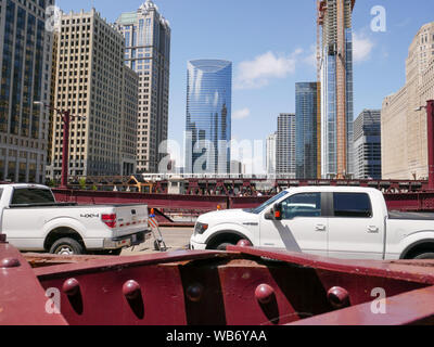
[(157, 172), (167, 152), (170, 26), (151, 0), (123, 13), (116, 26), (125, 38), (125, 63), (139, 74), (137, 169)]

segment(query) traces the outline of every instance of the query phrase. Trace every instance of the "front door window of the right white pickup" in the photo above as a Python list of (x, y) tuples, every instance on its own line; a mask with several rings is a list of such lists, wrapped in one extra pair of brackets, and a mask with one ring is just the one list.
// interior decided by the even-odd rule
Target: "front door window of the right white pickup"
[(282, 219), (321, 217), (321, 193), (297, 194), (286, 198), (282, 206)]

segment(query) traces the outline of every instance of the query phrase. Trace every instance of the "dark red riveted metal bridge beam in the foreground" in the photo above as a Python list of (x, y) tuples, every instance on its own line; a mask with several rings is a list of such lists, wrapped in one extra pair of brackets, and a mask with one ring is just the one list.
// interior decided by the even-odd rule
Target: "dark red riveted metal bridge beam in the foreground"
[[(31, 255), (38, 264), (31, 270), (18, 252), (0, 244), (1, 257), (20, 261), (0, 271), (0, 324), (434, 323), (434, 261), (344, 261), (229, 249), (69, 257), (65, 265), (51, 256), (54, 266), (35, 262)], [(384, 288), (388, 314), (371, 310), (374, 288)], [(53, 290), (60, 293), (61, 314), (44, 309), (44, 293)]]

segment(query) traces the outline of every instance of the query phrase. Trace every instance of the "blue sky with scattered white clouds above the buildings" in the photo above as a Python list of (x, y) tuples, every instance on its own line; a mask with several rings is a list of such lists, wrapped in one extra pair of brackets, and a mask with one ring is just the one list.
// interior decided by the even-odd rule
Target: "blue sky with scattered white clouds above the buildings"
[[(143, 0), (144, 1), (144, 0)], [(69, 12), (92, 7), (108, 22), (136, 11), (141, 0), (59, 0)], [(295, 112), (295, 83), (316, 81), (315, 0), (154, 0), (171, 27), (169, 139), (183, 141), (187, 62), (233, 63), (232, 139), (266, 140), (280, 113)], [(385, 31), (373, 31), (374, 7), (385, 9)], [(357, 0), (355, 116), (381, 108), (405, 83), (408, 48), (419, 28), (434, 22), (433, 0)]]

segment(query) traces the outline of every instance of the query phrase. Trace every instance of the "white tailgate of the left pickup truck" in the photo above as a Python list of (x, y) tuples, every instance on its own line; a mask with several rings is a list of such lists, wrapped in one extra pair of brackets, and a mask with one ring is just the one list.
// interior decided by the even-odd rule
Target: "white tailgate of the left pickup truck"
[(148, 230), (148, 205), (116, 206), (116, 228), (114, 236), (125, 236)]

